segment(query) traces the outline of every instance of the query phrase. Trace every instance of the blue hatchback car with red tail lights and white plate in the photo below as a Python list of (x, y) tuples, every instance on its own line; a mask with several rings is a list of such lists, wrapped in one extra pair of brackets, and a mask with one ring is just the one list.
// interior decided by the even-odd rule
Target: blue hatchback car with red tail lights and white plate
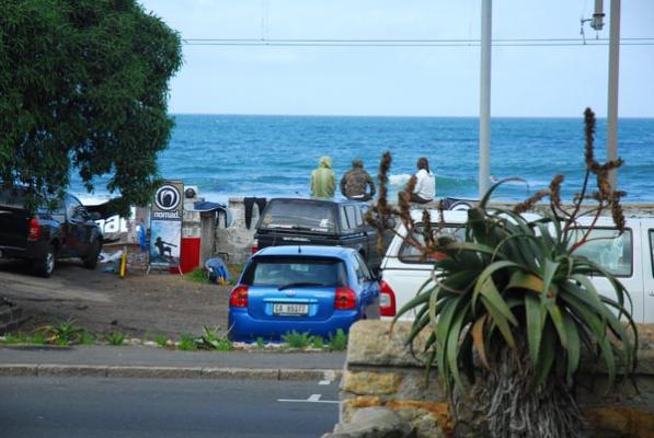
[(379, 319), (379, 283), (348, 247), (261, 250), (229, 296), (233, 341), (278, 341), (292, 331), (328, 337), (362, 319)]

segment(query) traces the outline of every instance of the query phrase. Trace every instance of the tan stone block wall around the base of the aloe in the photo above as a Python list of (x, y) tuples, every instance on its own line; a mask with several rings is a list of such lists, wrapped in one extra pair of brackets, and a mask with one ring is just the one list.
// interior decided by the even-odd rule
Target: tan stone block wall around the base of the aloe
[[(404, 345), (410, 327), (410, 322), (398, 322), (391, 333), (389, 321), (360, 321), (352, 327), (341, 382), (341, 423), (348, 423), (359, 410), (382, 406), (408, 420), (417, 437), (452, 436), (455, 424), (436, 372), (427, 384), (424, 357)], [(610, 399), (599, 388), (581, 394), (589, 437), (654, 436), (654, 325), (641, 326), (640, 334), (640, 394), (630, 384), (619, 387)], [(416, 351), (421, 342), (424, 338)]]

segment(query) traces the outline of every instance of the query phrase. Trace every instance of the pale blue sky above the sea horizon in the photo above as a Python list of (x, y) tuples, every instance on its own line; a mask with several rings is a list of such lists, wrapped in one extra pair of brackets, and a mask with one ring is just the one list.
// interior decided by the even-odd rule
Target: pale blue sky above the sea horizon
[[(481, 0), (141, 0), (182, 38), (478, 39)], [(593, 0), (495, 0), (493, 38), (576, 38)], [(587, 24), (587, 39), (609, 37)], [(654, 117), (654, 1), (622, 1), (622, 117)], [(493, 47), (493, 116), (606, 115), (608, 45)], [(477, 116), (480, 49), (184, 45), (172, 113)]]

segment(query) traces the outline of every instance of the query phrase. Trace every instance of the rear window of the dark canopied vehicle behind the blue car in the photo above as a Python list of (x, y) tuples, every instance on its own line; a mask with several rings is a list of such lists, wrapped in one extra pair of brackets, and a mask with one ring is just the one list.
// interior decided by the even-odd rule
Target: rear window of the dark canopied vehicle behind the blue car
[(334, 208), (329, 204), (273, 200), (260, 228), (335, 232)]

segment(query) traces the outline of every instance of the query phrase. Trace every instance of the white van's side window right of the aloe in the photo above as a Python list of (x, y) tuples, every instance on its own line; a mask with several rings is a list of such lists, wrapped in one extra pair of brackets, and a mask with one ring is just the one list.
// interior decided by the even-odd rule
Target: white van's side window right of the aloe
[[(575, 229), (574, 241), (583, 239), (586, 231), (586, 228)], [(615, 228), (595, 228), (588, 241), (574, 254), (587, 257), (617, 277), (630, 277), (633, 267), (632, 246), (630, 229), (620, 234)]]

